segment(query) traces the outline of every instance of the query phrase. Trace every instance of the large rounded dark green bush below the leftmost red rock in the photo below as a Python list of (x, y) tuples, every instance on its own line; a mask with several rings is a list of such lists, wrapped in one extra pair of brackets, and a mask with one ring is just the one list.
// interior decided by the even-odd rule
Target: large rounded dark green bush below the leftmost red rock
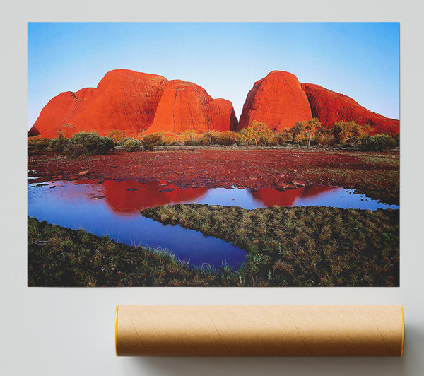
[[(77, 145), (83, 146), (83, 148), (78, 147)], [(114, 142), (110, 137), (99, 136), (95, 132), (80, 132), (73, 134), (73, 136), (68, 141), (68, 146), (66, 146), (67, 153), (74, 154), (76, 151), (81, 151), (81, 153), (95, 155), (95, 154), (105, 154), (111, 148), (113, 148)], [(84, 152), (84, 148), (86, 151)]]

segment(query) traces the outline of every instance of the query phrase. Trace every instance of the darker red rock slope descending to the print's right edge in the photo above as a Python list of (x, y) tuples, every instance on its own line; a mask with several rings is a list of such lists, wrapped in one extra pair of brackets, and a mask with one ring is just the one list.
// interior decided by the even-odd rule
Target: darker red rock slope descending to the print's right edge
[(399, 134), (399, 120), (371, 112), (347, 95), (312, 83), (302, 83), (302, 89), (310, 102), (312, 116), (317, 117), (323, 127), (331, 128), (335, 122), (353, 120), (361, 125), (370, 124), (371, 134)]

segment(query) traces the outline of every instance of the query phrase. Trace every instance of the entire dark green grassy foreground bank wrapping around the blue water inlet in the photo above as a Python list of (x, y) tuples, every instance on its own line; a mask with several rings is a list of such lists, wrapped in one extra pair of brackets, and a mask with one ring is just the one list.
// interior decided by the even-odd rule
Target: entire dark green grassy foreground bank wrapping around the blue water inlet
[(247, 251), (237, 270), (28, 218), (28, 286), (399, 286), (399, 210), (158, 206), (142, 214)]

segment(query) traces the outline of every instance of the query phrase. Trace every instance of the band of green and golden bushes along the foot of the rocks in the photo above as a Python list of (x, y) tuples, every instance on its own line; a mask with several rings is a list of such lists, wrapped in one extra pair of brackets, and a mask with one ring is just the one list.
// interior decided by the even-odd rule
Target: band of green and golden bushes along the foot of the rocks
[(376, 134), (370, 136), (372, 127), (356, 122), (336, 122), (330, 129), (322, 127), (319, 119), (296, 122), (296, 124), (276, 134), (262, 122), (253, 121), (249, 127), (239, 132), (208, 131), (199, 134), (194, 130), (183, 134), (158, 132), (137, 136), (127, 136), (125, 131), (116, 129), (107, 136), (93, 132), (80, 132), (66, 138), (59, 133), (55, 139), (35, 136), (28, 139), (28, 152), (63, 152), (71, 157), (78, 155), (104, 154), (112, 148), (126, 151), (153, 150), (158, 146), (350, 146), (366, 150), (380, 151), (399, 146), (399, 136)]

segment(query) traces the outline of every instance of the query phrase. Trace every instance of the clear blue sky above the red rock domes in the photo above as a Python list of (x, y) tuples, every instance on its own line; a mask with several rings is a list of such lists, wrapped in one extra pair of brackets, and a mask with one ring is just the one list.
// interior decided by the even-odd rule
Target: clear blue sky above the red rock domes
[(192, 81), (237, 118), (255, 81), (289, 71), (399, 119), (399, 23), (28, 23), (28, 129), (112, 69)]

